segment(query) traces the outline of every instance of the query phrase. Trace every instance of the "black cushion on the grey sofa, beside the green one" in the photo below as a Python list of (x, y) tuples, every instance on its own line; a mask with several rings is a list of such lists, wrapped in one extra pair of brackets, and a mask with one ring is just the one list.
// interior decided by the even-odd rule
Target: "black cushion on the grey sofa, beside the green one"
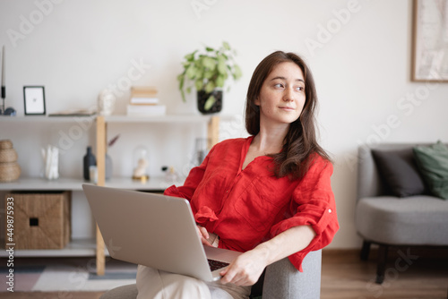
[(393, 195), (407, 197), (425, 192), (412, 149), (372, 149), (372, 155), (383, 182)]

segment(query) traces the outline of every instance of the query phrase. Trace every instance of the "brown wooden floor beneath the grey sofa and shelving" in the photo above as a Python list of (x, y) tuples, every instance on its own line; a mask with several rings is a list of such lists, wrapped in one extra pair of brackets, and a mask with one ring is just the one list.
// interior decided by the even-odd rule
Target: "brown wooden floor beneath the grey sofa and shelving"
[[(358, 251), (323, 251), (322, 299), (448, 299), (448, 252), (391, 251), (383, 285), (375, 279), (375, 251), (360, 261)], [(395, 255), (393, 253), (395, 252)], [(98, 299), (102, 292), (2, 293), (4, 299)], [(279, 298), (281, 299), (281, 298)]]

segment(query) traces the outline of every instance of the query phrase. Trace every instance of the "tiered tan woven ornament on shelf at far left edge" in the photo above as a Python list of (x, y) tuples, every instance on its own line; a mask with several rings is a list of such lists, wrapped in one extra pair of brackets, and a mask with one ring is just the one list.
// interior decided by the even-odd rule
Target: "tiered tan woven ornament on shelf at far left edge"
[(8, 183), (21, 176), (21, 167), (17, 163), (17, 152), (10, 140), (0, 141), (0, 182)]

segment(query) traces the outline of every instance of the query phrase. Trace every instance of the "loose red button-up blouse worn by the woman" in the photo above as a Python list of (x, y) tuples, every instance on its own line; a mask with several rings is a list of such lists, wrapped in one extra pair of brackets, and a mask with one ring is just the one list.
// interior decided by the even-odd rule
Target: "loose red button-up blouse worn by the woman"
[(201, 166), (194, 167), (180, 187), (166, 195), (190, 201), (196, 222), (220, 236), (220, 248), (238, 252), (293, 226), (312, 226), (313, 241), (289, 256), (300, 271), (306, 253), (332, 242), (339, 229), (330, 177), (332, 164), (315, 156), (301, 180), (277, 178), (272, 158), (261, 156), (242, 170), (254, 137), (231, 139), (215, 145)]

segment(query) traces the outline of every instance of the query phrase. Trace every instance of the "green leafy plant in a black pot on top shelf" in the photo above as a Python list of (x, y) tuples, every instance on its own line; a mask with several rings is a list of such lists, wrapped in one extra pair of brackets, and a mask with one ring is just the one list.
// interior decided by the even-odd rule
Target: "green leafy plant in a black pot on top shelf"
[[(185, 56), (184, 72), (177, 76), (179, 90), (185, 102), (185, 91), (197, 90), (198, 110), (202, 114), (220, 112), (222, 88), (229, 77), (235, 81), (241, 78), (241, 69), (234, 61), (235, 51), (227, 42), (218, 49), (205, 47), (204, 52), (195, 50)], [(186, 83), (190, 82), (189, 86)]]

